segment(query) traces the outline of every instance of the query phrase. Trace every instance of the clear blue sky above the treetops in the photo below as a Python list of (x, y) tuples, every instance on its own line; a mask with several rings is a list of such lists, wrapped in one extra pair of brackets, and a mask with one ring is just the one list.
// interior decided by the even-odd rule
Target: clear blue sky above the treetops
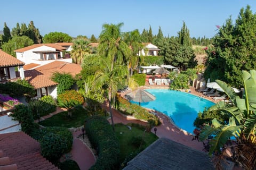
[(164, 36), (177, 36), (185, 21), (190, 37), (213, 37), (215, 25), (222, 25), (231, 15), (233, 22), (242, 7), (255, 0), (9, 0), (1, 2), (0, 30), (4, 22), (12, 29), (17, 22), (34, 21), (41, 35), (64, 32), (72, 37), (100, 35), (103, 23), (123, 22), (122, 31), (149, 29), (156, 35), (159, 26)]

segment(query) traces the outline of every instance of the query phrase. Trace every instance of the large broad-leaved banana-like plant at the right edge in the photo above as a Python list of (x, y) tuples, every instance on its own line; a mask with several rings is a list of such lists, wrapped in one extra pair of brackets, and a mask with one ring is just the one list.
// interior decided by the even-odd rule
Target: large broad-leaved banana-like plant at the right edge
[[(225, 82), (216, 80), (219, 86), (226, 92), (227, 96), (233, 101), (233, 105), (227, 105), (220, 101), (212, 106), (211, 110), (219, 110), (230, 115), (228, 124), (222, 125), (216, 119), (212, 120), (212, 126), (205, 126), (199, 135), (199, 140), (205, 140), (209, 135), (214, 135), (210, 142), (209, 155), (213, 152), (222, 157), (225, 149), (220, 149), (230, 139), (236, 138), (237, 145), (234, 147), (233, 161), (239, 163), (245, 169), (256, 168), (256, 71), (250, 73), (243, 71), (244, 94), (240, 98), (231, 87)], [(222, 157), (223, 158), (223, 157)], [(218, 159), (218, 165), (221, 160)]]

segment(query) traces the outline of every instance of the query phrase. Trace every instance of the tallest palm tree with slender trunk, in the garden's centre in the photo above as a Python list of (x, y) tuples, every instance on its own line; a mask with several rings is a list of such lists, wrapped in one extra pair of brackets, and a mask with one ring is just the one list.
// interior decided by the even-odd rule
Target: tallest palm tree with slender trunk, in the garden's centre
[(95, 74), (95, 82), (107, 86), (109, 112), (114, 130), (114, 121), (111, 111), (111, 101), (114, 100), (119, 84), (125, 83), (128, 77), (128, 69), (125, 66), (127, 58), (131, 55), (131, 49), (121, 38), (123, 23), (103, 24), (103, 30), (99, 36), (99, 54), (103, 57), (103, 71)]

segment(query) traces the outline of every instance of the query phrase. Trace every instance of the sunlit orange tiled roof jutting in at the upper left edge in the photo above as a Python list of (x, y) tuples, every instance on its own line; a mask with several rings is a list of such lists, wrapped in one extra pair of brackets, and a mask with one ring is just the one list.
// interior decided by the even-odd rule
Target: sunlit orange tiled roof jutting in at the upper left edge
[(0, 67), (25, 65), (22, 61), (0, 49)]

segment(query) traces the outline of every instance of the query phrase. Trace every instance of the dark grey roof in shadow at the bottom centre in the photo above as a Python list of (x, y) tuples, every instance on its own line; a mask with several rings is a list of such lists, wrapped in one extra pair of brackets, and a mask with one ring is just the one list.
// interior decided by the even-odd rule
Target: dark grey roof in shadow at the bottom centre
[(134, 157), (124, 170), (215, 169), (209, 156), (167, 138), (160, 138)]

